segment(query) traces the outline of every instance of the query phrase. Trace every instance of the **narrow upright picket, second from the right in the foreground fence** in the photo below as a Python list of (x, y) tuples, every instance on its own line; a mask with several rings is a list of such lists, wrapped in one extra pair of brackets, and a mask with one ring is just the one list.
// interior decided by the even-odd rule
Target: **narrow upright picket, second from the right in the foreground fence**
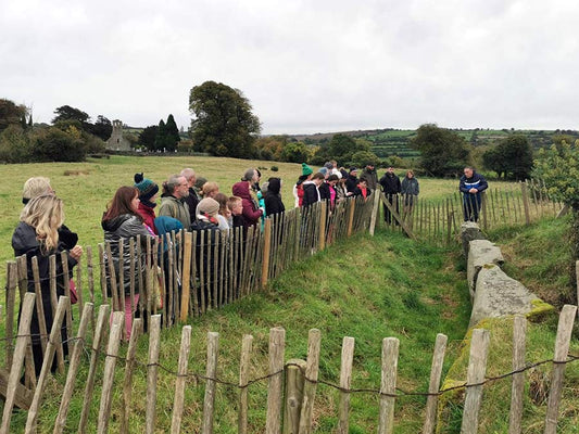
[[(525, 339), (527, 336), (527, 320), (523, 315), (516, 315), (513, 321), (513, 371), (525, 368)], [(520, 418), (523, 416), (523, 398), (525, 394), (525, 372), (513, 375), (511, 388), (511, 412), (508, 416), (508, 434), (520, 434)]]

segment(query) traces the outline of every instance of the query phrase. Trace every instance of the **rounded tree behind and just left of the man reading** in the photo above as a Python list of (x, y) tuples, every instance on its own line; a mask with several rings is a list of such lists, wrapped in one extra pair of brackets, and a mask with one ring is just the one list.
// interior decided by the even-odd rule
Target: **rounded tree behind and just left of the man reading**
[(411, 145), (420, 151), (420, 167), (433, 176), (457, 175), (469, 161), (465, 139), (436, 124), (421, 125)]

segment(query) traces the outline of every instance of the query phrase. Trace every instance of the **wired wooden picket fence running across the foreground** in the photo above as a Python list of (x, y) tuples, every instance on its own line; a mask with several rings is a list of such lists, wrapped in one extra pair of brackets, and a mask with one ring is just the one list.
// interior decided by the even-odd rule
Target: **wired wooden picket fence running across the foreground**
[[(12, 410), (17, 399), (22, 401), (25, 399), (18, 396), (20, 375), (26, 358), (28, 347), (29, 324), (35, 305), (35, 294), (26, 293), (24, 296), (22, 317), (18, 327), (18, 334), (16, 337), (16, 346), (10, 375), (7, 382), (5, 403), (2, 414), (2, 422), (0, 425), (0, 434), (14, 432), (11, 430)], [(36, 382), (36, 387), (30, 396), (26, 398), (25, 405), (28, 409), (25, 433), (35, 433), (37, 430), (37, 422), (39, 412), (41, 411), (40, 403), (42, 393), (47, 385), (50, 366), (54, 357), (56, 347), (61, 344), (59, 342), (61, 326), (70, 311), (70, 299), (62, 296), (55, 310), (54, 324), (52, 327), (50, 339), (47, 343), (47, 350), (42, 371)], [(395, 418), (395, 403), (401, 397), (397, 388), (398, 375), (398, 359), (399, 359), (399, 340), (394, 337), (386, 337), (382, 340), (381, 349), (381, 382), (379, 387), (375, 390), (353, 390), (351, 384), (354, 344), (353, 337), (344, 337), (341, 353), (341, 368), (340, 382), (332, 384), (330, 382), (319, 379), (319, 360), (322, 350), (322, 335), (319, 330), (312, 329), (309, 334), (307, 343), (307, 358), (306, 360), (289, 359), (285, 354), (286, 332), (282, 328), (274, 328), (269, 331), (268, 345), (268, 368), (267, 374), (259, 379), (250, 379), (250, 368), (252, 359), (252, 342), (253, 336), (244, 335), (240, 352), (240, 369), (239, 382), (226, 382), (217, 378), (218, 371), (218, 333), (207, 333), (207, 352), (206, 352), (206, 369), (204, 374), (198, 372), (190, 372), (188, 370), (188, 362), (190, 359), (191, 345), (191, 327), (185, 326), (181, 329), (181, 346), (178, 355), (178, 368), (173, 372), (174, 385), (167, 385), (167, 382), (159, 383), (158, 373), (160, 369), (171, 372), (167, 368), (160, 363), (161, 349), (161, 315), (151, 316), (151, 323), (149, 329), (149, 348), (147, 361), (137, 360), (136, 343), (140, 333), (142, 332), (141, 319), (136, 319), (133, 323), (133, 333), (128, 343), (126, 357), (119, 357), (119, 346), (122, 342), (122, 330), (124, 328), (124, 315), (121, 311), (114, 312), (112, 323), (110, 327), (109, 340), (106, 349), (101, 352), (101, 347), (105, 345), (105, 329), (110, 318), (110, 306), (101, 305), (99, 308), (97, 327), (92, 334), (91, 344), (87, 336), (89, 329), (89, 319), (92, 317), (93, 305), (87, 303), (84, 307), (83, 319), (74, 340), (73, 352), (71, 353), (71, 360), (68, 370), (66, 372), (66, 383), (63, 388), (61, 405), (59, 413), (54, 421), (53, 433), (62, 433), (66, 431), (77, 431), (84, 433), (87, 431), (88, 418), (93, 406), (93, 400), (99, 396), (100, 403), (98, 405), (98, 420), (95, 423), (98, 433), (109, 432), (111, 422), (112, 406), (115, 404), (121, 408), (121, 420), (115, 429), (121, 433), (130, 432), (129, 417), (131, 408), (134, 407), (133, 397), (133, 382), (135, 380), (136, 365), (146, 366), (147, 369), (147, 396), (146, 396), (146, 421), (144, 432), (155, 433), (159, 431), (171, 433), (181, 432), (181, 422), (184, 418), (185, 406), (191, 406), (194, 403), (186, 401), (185, 387), (188, 379), (194, 378), (202, 380), (204, 384), (203, 412), (202, 420), (199, 422), (200, 432), (210, 434), (214, 432), (214, 417), (216, 414), (216, 394), (217, 386), (234, 386), (238, 390), (237, 412), (238, 412), (238, 432), (248, 433), (248, 396), (250, 393), (249, 386), (256, 383), (267, 383), (267, 408), (265, 426), (255, 427), (253, 424), (252, 432), (265, 432), (267, 434), (281, 433), (312, 433), (315, 431), (313, 424), (313, 414), (315, 408), (315, 397), (317, 385), (323, 383), (327, 386), (333, 387), (339, 392), (338, 404), (338, 422), (332, 432), (348, 433), (350, 419), (350, 397), (353, 393), (377, 394), (379, 396), (379, 405), (377, 408), (377, 425), (378, 433), (392, 433), (394, 429)], [(572, 327), (575, 318), (577, 317), (577, 306), (566, 305), (562, 309), (555, 342), (553, 371), (551, 378), (551, 387), (549, 392), (547, 409), (544, 422), (544, 433), (553, 434), (556, 432), (558, 420), (558, 407), (562, 398), (562, 391), (564, 384), (564, 373), (566, 365), (570, 361), (579, 360), (578, 357), (569, 355), (569, 346), (572, 334)], [(442, 394), (455, 392), (456, 390), (464, 390), (464, 411), (462, 419), (461, 433), (469, 434), (476, 433), (478, 429), (479, 410), (483, 399), (483, 390), (486, 385), (493, 381), (512, 381), (512, 396), (511, 396), (511, 412), (509, 412), (509, 433), (521, 432), (523, 418), (523, 401), (524, 401), (524, 386), (525, 372), (533, 366), (529, 366), (525, 356), (526, 342), (526, 327), (527, 322), (523, 316), (514, 318), (513, 327), (513, 371), (499, 378), (489, 379), (487, 372), (487, 359), (489, 354), (489, 331), (483, 329), (475, 329), (470, 339), (469, 362), (466, 382), (458, 386), (453, 386), (446, 390), (440, 390), (442, 366), (444, 361), (444, 353), (446, 346), (446, 336), (439, 334), (435, 343), (435, 350), (432, 356), (431, 373), (428, 391), (419, 394), (427, 397), (425, 408), (425, 420), (423, 426), (424, 434), (431, 434), (435, 432), (437, 424), (437, 407), (439, 397)], [(80, 355), (88, 350), (90, 354), (90, 367), (87, 378), (78, 378), (78, 368)], [(115, 382), (115, 372), (117, 366), (124, 362), (122, 381)], [(541, 361), (540, 363), (543, 363)], [(97, 370), (102, 372), (102, 385), (96, 386), (95, 378)], [(116, 375), (117, 376), (117, 375)], [(70, 403), (73, 391), (77, 383), (85, 384), (84, 387), (84, 406), (79, 416), (71, 417), (68, 413)], [(163, 385), (174, 387), (174, 405), (172, 408), (171, 426), (159, 426), (156, 423), (156, 395), (159, 387)], [(199, 386), (199, 385), (196, 385)], [(113, 391), (122, 390), (122, 396), (117, 397), (116, 401), (113, 399)], [(415, 393), (416, 394), (416, 393)], [(114, 401), (114, 403), (113, 403)], [(96, 404), (96, 403), (95, 403)], [(200, 404), (199, 404), (200, 405)]]

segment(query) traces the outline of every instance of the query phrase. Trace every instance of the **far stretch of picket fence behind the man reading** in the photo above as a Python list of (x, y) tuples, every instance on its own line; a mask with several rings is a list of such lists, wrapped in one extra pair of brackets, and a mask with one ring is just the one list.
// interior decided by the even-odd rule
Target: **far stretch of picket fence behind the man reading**
[[(458, 234), (464, 220), (463, 197), (457, 191), (442, 200), (424, 200), (418, 196), (413, 206), (406, 207), (402, 195), (390, 201), (381, 195), (383, 206), (389, 207), (393, 215), (385, 226), (401, 229), (412, 238), (450, 243)], [(530, 179), (516, 187), (503, 184), (487, 189), (482, 194), (478, 222), (483, 230), (529, 225), (544, 217), (556, 217), (563, 207), (550, 197), (543, 181)]]

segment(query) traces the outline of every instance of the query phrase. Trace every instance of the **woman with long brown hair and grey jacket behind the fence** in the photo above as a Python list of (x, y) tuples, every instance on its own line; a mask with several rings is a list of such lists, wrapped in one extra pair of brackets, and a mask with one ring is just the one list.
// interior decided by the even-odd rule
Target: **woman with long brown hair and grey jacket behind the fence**
[[(112, 202), (102, 216), (101, 226), (104, 230), (104, 242), (111, 245), (111, 257), (106, 255), (106, 252), (104, 254), (106, 288), (111, 288), (110, 261), (113, 263), (116, 278), (121, 276), (119, 271), (123, 267), (123, 282), (118, 293), (124, 294), (124, 299), (121, 303), (124, 303), (125, 306), (125, 336), (128, 340), (133, 327), (133, 312), (138, 311), (136, 306), (139, 302), (139, 288), (136, 284), (134, 289), (135, 306), (130, 304), (130, 282), (138, 282), (139, 273), (144, 276), (146, 267), (146, 255), (140, 255), (136, 259), (130, 256), (130, 239), (141, 235), (141, 250), (146, 252), (147, 237), (151, 237), (139, 214), (139, 190), (135, 187), (121, 187), (116, 190)], [(121, 257), (121, 242), (123, 242), (123, 257)], [(134, 260), (136, 264), (133, 264)]]

